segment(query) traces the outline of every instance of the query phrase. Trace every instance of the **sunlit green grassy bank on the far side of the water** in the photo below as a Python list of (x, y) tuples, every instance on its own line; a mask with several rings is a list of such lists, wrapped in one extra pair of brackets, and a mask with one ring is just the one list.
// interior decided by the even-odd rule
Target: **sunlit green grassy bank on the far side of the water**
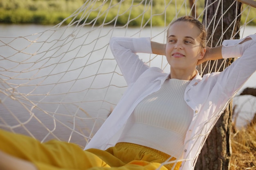
[[(171, 2), (166, 9), (166, 18), (164, 15), (159, 15), (165, 10), (165, 1), (157, 0), (153, 1), (153, 4), (146, 4), (141, 0), (133, 0), (133, 6), (130, 10), (131, 0), (122, 2), (122, 7), (119, 8), (117, 2), (120, 0), (112, 0), (111, 10), (106, 14), (110, 5), (110, 1), (98, 0), (91, 4), (86, 4), (88, 8), (84, 9), (86, 17), (83, 19), (85, 23), (102, 24), (103, 22), (110, 22), (114, 24), (114, 18), (117, 18), (117, 24), (124, 25), (130, 18), (130, 26), (141, 26), (143, 24), (153, 26), (164, 26), (168, 24), (175, 17), (176, 12), (178, 16), (186, 15), (190, 9), (184, 9), (178, 11), (183, 1)], [(0, 0), (0, 23), (8, 24), (58, 24), (65, 18), (69, 17), (74, 11), (83, 6), (85, 0)], [(189, 1), (187, 1), (189, 3)], [(104, 4), (104, 5), (102, 5)], [(151, 10), (152, 5), (152, 10)], [(149, 8), (149, 9), (145, 9)], [(176, 8), (177, 7), (177, 8)], [(189, 5), (187, 5), (189, 7)], [(244, 6), (245, 7), (245, 6)], [(129, 9), (129, 10), (128, 10)], [(204, 0), (198, 0), (197, 10), (201, 13), (204, 9)], [(99, 11), (101, 11), (99, 13)], [(144, 15), (137, 17), (139, 14), (146, 11)], [(247, 11), (245, 11), (247, 13)], [(151, 15), (153, 18), (150, 18)], [(99, 15), (99, 16), (98, 16)], [(80, 13), (75, 20), (78, 20), (82, 16)], [(97, 17), (98, 16), (98, 17)], [(256, 16), (256, 9), (252, 8), (249, 13), (247, 21), (252, 20)], [(245, 23), (246, 15), (242, 15), (242, 23)], [(97, 20), (95, 19), (97, 18)], [(135, 19), (136, 18), (136, 19)], [(73, 18), (66, 20), (63, 24), (68, 24)], [(164, 22), (166, 20), (166, 22)], [(148, 22), (149, 21), (149, 22)], [(249, 25), (256, 26), (256, 20), (252, 20)]]

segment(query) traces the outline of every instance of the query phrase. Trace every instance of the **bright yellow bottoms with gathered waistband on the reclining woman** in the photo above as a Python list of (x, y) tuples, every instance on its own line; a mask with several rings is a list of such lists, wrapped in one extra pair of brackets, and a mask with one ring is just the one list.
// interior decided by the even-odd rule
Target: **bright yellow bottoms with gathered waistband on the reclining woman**
[(0, 130), (0, 150), (34, 163), (38, 170), (178, 170), (181, 164), (161, 166), (169, 155), (137, 144), (118, 143), (105, 151), (83, 150), (76, 144), (57, 140), (40, 143), (4, 130)]

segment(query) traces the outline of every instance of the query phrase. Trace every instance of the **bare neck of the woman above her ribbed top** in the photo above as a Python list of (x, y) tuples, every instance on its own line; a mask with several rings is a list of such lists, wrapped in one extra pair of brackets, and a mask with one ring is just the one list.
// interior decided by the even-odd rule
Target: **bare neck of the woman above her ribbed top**
[(191, 71), (171, 69), (171, 78), (172, 79), (192, 80), (196, 74), (197, 74), (197, 71), (195, 69), (191, 70)]

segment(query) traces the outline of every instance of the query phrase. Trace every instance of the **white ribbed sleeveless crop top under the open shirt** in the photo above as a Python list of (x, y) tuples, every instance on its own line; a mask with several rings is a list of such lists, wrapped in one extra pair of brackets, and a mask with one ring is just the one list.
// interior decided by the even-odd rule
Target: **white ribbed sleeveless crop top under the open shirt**
[(166, 79), (159, 91), (136, 106), (118, 142), (147, 146), (180, 158), (193, 118), (193, 110), (184, 101), (189, 82)]

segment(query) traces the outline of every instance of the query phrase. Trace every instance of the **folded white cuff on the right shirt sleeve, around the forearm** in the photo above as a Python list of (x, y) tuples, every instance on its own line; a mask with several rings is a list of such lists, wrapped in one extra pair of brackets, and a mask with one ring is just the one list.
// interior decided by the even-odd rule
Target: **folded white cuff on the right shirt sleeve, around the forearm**
[[(248, 37), (252, 38), (252, 40), (239, 44)], [(249, 35), (246, 38), (239, 40), (224, 40), (222, 42), (222, 58), (241, 57), (246, 49), (255, 44), (256, 34)]]

